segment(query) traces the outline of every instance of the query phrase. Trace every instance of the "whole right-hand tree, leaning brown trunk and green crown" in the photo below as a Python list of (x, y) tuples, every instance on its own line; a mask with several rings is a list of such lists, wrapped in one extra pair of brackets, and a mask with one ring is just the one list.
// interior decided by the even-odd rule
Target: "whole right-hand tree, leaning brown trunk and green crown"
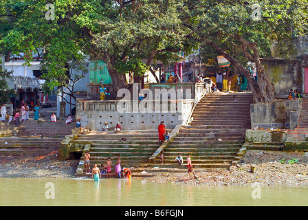
[[(254, 102), (273, 102), (274, 85), (261, 58), (270, 56), (272, 41), (292, 42), (294, 36), (307, 34), (307, 8), (307, 0), (189, 0), (183, 25), (244, 74)], [(255, 64), (257, 80), (248, 62)]]

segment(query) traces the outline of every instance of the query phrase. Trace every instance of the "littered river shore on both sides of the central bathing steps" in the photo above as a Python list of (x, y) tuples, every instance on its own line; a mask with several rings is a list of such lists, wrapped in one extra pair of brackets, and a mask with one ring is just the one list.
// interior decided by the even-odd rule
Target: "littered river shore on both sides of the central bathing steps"
[[(293, 164), (292, 159), (296, 159)], [(255, 173), (250, 172), (252, 164), (256, 167)], [(0, 157), (0, 177), (74, 178), (77, 165), (78, 160), (58, 161), (57, 153), (45, 157)], [(308, 153), (248, 151), (239, 166), (232, 168), (215, 171), (196, 169), (196, 179), (189, 179), (188, 173), (168, 172), (135, 173), (135, 177), (133, 173), (132, 178), (184, 185), (251, 186), (259, 183), (261, 186), (308, 187)]]

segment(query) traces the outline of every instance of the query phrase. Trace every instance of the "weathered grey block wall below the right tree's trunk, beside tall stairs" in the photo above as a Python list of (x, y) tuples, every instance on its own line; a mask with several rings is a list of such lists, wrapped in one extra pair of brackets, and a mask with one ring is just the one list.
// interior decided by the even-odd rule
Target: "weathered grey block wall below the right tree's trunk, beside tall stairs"
[(272, 104), (250, 104), (252, 129), (294, 129), (298, 123), (299, 100), (276, 100)]

